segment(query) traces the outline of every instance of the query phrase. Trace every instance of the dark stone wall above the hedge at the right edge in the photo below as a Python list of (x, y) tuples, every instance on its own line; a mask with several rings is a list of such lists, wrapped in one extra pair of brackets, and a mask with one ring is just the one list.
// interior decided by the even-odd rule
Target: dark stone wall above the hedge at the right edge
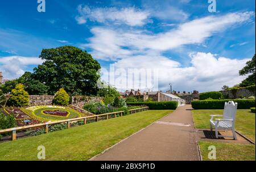
[(255, 97), (255, 88), (240, 88), (240, 89), (233, 89), (229, 91), (221, 91), (225, 98), (243, 98), (243, 97)]

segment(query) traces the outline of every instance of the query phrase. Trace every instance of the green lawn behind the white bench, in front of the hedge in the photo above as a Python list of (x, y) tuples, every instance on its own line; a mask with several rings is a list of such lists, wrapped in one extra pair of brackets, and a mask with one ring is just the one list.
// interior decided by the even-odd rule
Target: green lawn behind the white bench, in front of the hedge
[[(205, 109), (192, 110), (196, 128), (209, 128), (211, 114), (223, 114), (223, 110)], [(255, 141), (255, 113), (250, 109), (238, 109), (236, 116), (236, 130)]]

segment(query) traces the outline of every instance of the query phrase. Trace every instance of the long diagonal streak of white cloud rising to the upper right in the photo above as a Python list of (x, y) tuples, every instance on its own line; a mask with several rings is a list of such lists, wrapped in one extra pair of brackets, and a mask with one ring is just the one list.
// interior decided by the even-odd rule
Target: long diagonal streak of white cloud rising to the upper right
[(93, 57), (105, 60), (146, 54), (148, 51), (159, 54), (183, 45), (204, 45), (207, 38), (250, 21), (254, 14), (254, 12), (235, 12), (207, 16), (179, 24), (174, 29), (158, 34), (138, 29), (130, 31), (130, 29), (94, 27), (91, 29), (94, 36), (89, 38), (88, 44), (82, 44), (81, 48), (89, 47), (92, 49)]

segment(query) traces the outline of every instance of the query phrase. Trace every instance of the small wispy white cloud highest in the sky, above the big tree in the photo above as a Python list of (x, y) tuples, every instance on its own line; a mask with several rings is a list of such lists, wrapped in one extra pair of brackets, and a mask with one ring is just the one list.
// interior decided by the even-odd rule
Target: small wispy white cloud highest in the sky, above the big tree
[(87, 20), (106, 23), (111, 21), (114, 24), (125, 23), (127, 25), (143, 25), (148, 18), (148, 12), (134, 7), (116, 8), (90, 8), (89, 6), (79, 5), (77, 7), (79, 15), (76, 16), (78, 24), (84, 24)]

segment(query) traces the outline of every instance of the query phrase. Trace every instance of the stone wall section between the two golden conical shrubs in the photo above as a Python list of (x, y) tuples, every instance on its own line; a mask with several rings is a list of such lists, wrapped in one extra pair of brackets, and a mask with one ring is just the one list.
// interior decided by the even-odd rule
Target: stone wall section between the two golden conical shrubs
[(51, 105), (54, 96), (46, 95), (30, 95), (30, 106), (39, 106), (39, 105)]

